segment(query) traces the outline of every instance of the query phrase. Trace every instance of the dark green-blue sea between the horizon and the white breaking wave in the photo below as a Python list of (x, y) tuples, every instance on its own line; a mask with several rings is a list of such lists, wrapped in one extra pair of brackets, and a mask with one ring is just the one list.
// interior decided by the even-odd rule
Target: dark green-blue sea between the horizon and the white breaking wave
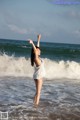
[[(2, 42), (2, 41), (1, 41)], [(15, 56), (30, 56), (31, 46), (28, 43), (0, 43), (0, 52)], [(64, 44), (42, 44), (42, 56), (57, 60), (75, 60), (80, 61), (80, 46)]]

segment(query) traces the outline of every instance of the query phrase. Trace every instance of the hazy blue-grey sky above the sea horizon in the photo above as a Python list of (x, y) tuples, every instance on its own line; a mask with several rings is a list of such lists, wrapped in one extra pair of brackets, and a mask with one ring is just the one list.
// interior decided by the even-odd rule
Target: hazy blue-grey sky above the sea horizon
[(0, 38), (80, 44), (80, 0), (0, 0)]

